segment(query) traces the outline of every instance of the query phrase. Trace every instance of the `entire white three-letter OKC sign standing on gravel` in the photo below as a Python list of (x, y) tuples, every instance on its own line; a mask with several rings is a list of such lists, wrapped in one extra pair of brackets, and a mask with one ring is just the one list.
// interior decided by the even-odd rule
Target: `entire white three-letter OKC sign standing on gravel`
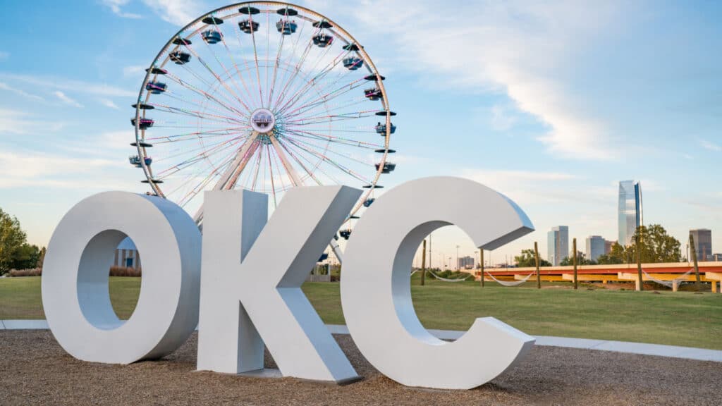
[[(260, 370), (265, 346), (283, 376), (355, 380), (300, 286), (360, 194), (346, 186), (291, 189), (268, 219), (265, 194), (209, 191), (202, 238), (168, 200), (118, 191), (90, 196), (63, 217), (48, 246), (42, 279), (48, 324), (80, 360), (160, 358), (197, 325), (199, 370)], [(409, 269), (422, 239), (450, 224), (483, 249), (533, 230), (516, 204), (486, 186), (423, 178), (377, 199), (344, 254), (341, 300), (349, 332), (378, 371), (404, 385), (473, 388), (534, 345), (533, 337), (492, 317), (474, 321), (456, 342), (422, 326)], [(142, 253), (143, 277), (135, 311), (121, 321), (110, 304), (108, 268), (126, 236)]]

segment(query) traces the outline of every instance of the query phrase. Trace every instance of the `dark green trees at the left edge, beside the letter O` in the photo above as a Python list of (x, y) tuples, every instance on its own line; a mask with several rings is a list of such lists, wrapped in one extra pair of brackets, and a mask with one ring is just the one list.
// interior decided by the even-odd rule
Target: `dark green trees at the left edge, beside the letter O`
[(27, 243), (17, 217), (0, 209), (0, 275), (10, 269), (35, 269), (43, 264), (45, 247)]

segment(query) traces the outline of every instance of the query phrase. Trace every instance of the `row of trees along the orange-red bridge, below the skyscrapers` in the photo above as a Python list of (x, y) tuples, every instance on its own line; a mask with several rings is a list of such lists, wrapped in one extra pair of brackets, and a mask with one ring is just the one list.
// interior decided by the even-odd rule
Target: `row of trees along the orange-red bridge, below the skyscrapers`
[[(670, 236), (667, 230), (661, 225), (641, 225), (632, 237), (632, 243), (622, 246), (619, 243), (612, 244), (609, 254), (599, 256), (596, 261), (587, 259), (581, 253), (577, 253), (578, 265), (611, 265), (611, 264), (632, 264), (637, 262), (637, 253), (640, 253), (641, 262), (644, 264), (655, 264), (659, 262), (684, 262), (679, 251), (682, 243)], [(524, 249), (521, 255), (515, 256), (514, 261), (518, 267), (536, 267), (533, 249)], [(560, 262), (561, 266), (573, 265), (573, 257), (567, 256)], [(552, 264), (546, 259), (539, 258), (540, 267), (551, 267)]]

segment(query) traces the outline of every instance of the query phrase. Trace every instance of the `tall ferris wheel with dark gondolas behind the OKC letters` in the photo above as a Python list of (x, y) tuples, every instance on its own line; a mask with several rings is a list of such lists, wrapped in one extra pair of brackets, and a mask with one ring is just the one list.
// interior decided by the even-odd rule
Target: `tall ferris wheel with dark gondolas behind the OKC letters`
[(295, 186), (361, 186), (339, 232), (348, 238), (380, 176), (396, 168), (385, 78), (352, 35), (310, 9), (216, 9), (178, 31), (146, 70), (130, 163), (149, 193), (199, 225), (206, 190), (266, 193), (272, 210)]

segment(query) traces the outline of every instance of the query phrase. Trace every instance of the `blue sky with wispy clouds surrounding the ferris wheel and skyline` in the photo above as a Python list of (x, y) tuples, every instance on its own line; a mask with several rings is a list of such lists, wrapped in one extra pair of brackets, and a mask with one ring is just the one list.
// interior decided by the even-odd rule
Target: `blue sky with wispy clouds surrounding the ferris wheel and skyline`
[[(47, 244), (85, 196), (146, 190), (127, 163), (143, 69), (182, 25), (226, 4), (0, 5), (0, 207), (30, 242)], [(399, 153), (384, 186), (464, 176), (526, 211), (537, 231), (494, 251), (495, 262), (545, 247), (554, 225), (580, 246), (616, 239), (625, 179), (642, 182), (645, 223), (683, 246), (690, 228), (711, 228), (722, 251), (719, 2), (300, 4), (345, 27), (387, 77)], [(474, 251), (453, 230), (434, 243), (444, 258), (457, 244)]]

